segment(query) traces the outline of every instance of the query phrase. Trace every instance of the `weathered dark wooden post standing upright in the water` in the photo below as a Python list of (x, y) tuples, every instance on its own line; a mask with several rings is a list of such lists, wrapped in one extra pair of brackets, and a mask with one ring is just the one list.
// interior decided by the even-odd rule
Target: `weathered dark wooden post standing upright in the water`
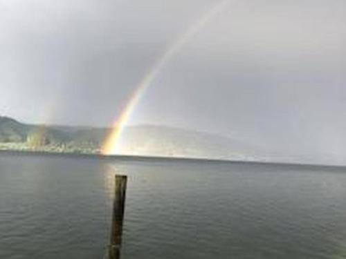
[(115, 197), (113, 203), (113, 220), (111, 225), (111, 244), (109, 247), (109, 259), (120, 259), (122, 239), (122, 222), (125, 211), (126, 175), (116, 175)]

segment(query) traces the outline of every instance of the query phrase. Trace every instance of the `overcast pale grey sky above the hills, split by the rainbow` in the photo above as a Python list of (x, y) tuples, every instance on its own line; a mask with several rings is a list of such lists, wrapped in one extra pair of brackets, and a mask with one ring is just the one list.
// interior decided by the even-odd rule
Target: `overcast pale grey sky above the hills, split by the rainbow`
[[(216, 0), (0, 0), (0, 114), (111, 124)], [(131, 124), (346, 155), (346, 1), (229, 1), (153, 81)]]

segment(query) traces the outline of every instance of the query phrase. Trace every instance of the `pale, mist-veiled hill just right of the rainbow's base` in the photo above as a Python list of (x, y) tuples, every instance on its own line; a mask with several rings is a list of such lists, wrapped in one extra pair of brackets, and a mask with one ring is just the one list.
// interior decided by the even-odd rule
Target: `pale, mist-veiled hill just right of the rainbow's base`
[[(228, 137), (169, 126), (131, 126), (122, 135), (125, 155), (257, 160), (253, 146)], [(246, 155), (245, 155), (246, 154)]]

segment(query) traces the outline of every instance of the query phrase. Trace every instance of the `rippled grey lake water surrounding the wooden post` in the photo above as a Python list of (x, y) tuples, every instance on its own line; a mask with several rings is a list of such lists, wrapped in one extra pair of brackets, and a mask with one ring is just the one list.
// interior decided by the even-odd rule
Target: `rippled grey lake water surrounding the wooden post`
[(346, 258), (346, 169), (0, 153), (0, 258)]

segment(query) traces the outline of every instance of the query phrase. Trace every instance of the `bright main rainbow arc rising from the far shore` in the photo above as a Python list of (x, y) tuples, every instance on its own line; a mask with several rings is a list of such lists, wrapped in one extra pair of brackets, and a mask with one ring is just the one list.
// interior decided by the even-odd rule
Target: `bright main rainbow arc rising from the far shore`
[(116, 155), (120, 154), (120, 140), (123, 131), (125, 130), (125, 126), (129, 122), (131, 114), (134, 112), (137, 104), (140, 102), (140, 99), (143, 97), (145, 90), (152, 84), (152, 81), (156, 78), (158, 73), (165, 67), (167, 63), (176, 55), (181, 48), (194, 36), (196, 35), (205, 25), (213, 19), (217, 14), (219, 14), (224, 8), (226, 4), (230, 0), (220, 1), (211, 9), (209, 9), (206, 13), (204, 13), (196, 22), (192, 24), (176, 41), (173, 42), (163, 52), (163, 55), (156, 61), (154, 66), (149, 70), (149, 73), (140, 80), (139, 84), (136, 86), (134, 93), (132, 93), (129, 101), (122, 109), (120, 116), (113, 123), (112, 129), (110, 133), (107, 135), (104, 143), (102, 145), (102, 154), (103, 155)]

